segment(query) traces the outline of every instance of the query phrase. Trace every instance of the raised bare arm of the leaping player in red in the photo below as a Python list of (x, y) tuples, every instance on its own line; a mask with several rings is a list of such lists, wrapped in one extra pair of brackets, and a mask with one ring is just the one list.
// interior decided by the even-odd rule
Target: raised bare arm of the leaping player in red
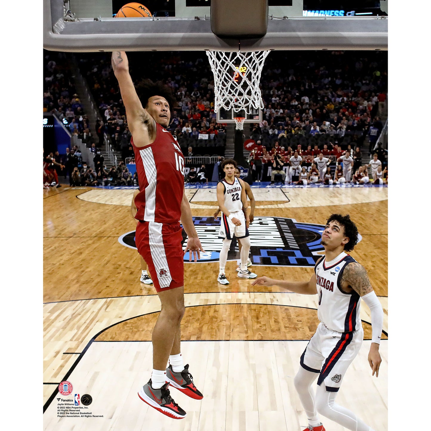
[(136, 147), (151, 144), (156, 138), (156, 122), (144, 109), (129, 73), (129, 63), (124, 51), (112, 53), (112, 70), (118, 80), (121, 98), (126, 108), (127, 125)]

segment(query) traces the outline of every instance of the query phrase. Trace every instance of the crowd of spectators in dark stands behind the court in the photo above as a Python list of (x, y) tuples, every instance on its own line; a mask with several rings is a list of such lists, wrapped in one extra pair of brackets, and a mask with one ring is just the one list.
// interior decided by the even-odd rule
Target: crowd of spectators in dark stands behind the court
[[(72, 60), (64, 53), (44, 51), (44, 55), (44, 112), (53, 112), (71, 134), (77, 134), (91, 148), (95, 156), (100, 156), (98, 148), (107, 135), (114, 147), (121, 151), (122, 160), (133, 158), (131, 133), (110, 55), (75, 55), (99, 109), (100, 118), (94, 125), (96, 137), (91, 134), (88, 118), (70, 78), (68, 64)], [(143, 56), (146, 64), (157, 65), (145, 69), (144, 74), (141, 69)], [(186, 162), (187, 154), (190, 156), (191, 153), (223, 156), (226, 125), (216, 122), (214, 81), (205, 54), (128, 53), (128, 57), (135, 83), (141, 78), (150, 78), (171, 88), (175, 103), (171, 109), (169, 130), (177, 137)], [(254, 181), (270, 179), (265, 172), (269, 166), (272, 167), (275, 154), (281, 155), (283, 163), (289, 164), (295, 151), (307, 168), (320, 153), (324, 157), (329, 156), (331, 161), (345, 152), (350, 153), (354, 159), (353, 171), (356, 172), (362, 163), (367, 136), (368, 156), (380, 151), (378, 158), (383, 169), (386, 167), (387, 150), (375, 150), (383, 128), (380, 114), (387, 94), (386, 52), (366, 52), (358, 57), (352, 51), (275, 51), (265, 61), (260, 87), (265, 105), (263, 120), (244, 130), (247, 137), (257, 142), (256, 149), (250, 154)], [(73, 160), (76, 149), (70, 153)], [(69, 163), (69, 154), (63, 156), (59, 161), (57, 156), (57, 162), (65, 166), (63, 170), (71, 177), (72, 172), (76, 172), (75, 167), (81, 169), (82, 160), (78, 161), (79, 166), (75, 166), (75, 162)], [(111, 168), (104, 174), (101, 172), (106, 169), (103, 166), (97, 162), (96, 179), (86, 181), (101, 181), (103, 175), (115, 178), (109, 180), (112, 182), (128, 184), (131, 181), (123, 175), (120, 179), (107, 175)], [(72, 182), (77, 184), (71, 181), (71, 185)]]

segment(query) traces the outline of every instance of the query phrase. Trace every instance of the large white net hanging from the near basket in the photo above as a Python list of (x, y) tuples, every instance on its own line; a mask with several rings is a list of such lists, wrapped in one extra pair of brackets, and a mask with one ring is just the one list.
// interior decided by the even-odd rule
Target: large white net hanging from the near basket
[(214, 112), (222, 107), (244, 109), (247, 114), (251, 108), (263, 109), (259, 81), (268, 54), (269, 51), (206, 51), (214, 74)]

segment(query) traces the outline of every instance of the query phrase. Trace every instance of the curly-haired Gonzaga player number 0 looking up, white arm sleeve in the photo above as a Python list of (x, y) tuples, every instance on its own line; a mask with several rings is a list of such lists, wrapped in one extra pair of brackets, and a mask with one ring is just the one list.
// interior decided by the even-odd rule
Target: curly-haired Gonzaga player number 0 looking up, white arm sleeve
[[(359, 317), (361, 299), (371, 311), (372, 343), (368, 362), (378, 377), (383, 328), (383, 309), (364, 267), (345, 251), (358, 242), (358, 230), (350, 216), (332, 214), (326, 222), (321, 244), (325, 256), (316, 262), (309, 281), (282, 281), (259, 277), (253, 285), (277, 285), (298, 294), (319, 294), (317, 331), (300, 359), (294, 384), (308, 418), (306, 430), (325, 431), (319, 413), (353, 431), (373, 431), (350, 410), (335, 403), (337, 391), (362, 344), (364, 331)], [(319, 378), (318, 378), (319, 377)], [(317, 380), (314, 394), (311, 385)], [(304, 431), (306, 431), (304, 430)]]

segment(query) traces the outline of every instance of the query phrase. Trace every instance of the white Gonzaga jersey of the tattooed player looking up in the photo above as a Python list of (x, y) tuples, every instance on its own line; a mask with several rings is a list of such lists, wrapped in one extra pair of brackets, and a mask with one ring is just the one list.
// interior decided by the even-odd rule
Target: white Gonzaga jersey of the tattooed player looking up
[(341, 253), (330, 265), (323, 258), (314, 267), (317, 278), (319, 306), (317, 317), (332, 331), (352, 332), (362, 328), (359, 318), (360, 296), (354, 290), (345, 294), (340, 290), (340, 280), (344, 268), (350, 262), (356, 262), (352, 256)]

